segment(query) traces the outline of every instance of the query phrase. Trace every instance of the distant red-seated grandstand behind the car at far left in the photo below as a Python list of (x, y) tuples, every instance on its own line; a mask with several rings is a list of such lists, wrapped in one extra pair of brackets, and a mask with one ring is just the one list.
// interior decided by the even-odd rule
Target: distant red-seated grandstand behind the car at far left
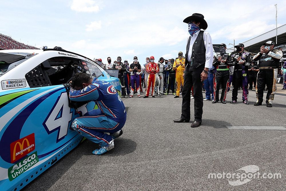
[(29, 46), (27, 44), (18, 42), (9, 36), (0, 34), (0, 50), (8, 49), (39, 49), (34, 46)]

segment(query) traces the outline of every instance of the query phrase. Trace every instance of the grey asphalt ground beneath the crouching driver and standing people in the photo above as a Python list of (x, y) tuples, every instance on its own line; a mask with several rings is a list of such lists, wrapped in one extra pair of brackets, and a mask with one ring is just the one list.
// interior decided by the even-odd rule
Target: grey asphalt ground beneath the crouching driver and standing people
[[(238, 95), (242, 97), (241, 90)], [(249, 92), (250, 105), (241, 100), (230, 104), (231, 91), (226, 105), (204, 101), (198, 128), (173, 123), (180, 117), (181, 97), (142, 97), (123, 99), (127, 121), (113, 150), (92, 155), (98, 145), (86, 140), (25, 190), (286, 190), (286, 131), (226, 128), (286, 128), (286, 91), (277, 92), (272, 108), (265, 101), (253, 106), (254, 91)], [(227, 178), (208, 178), (209, 173), (235, 173), (249, 165), (282, 178), (256, 178), (240, 186), (231, 186)]]

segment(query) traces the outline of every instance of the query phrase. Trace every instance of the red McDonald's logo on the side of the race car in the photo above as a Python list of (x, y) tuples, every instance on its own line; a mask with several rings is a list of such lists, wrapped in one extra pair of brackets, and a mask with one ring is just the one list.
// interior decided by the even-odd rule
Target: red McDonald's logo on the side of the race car
[(35, 133), (27, 135), (10, 144), (11, 163), (35, 150)]

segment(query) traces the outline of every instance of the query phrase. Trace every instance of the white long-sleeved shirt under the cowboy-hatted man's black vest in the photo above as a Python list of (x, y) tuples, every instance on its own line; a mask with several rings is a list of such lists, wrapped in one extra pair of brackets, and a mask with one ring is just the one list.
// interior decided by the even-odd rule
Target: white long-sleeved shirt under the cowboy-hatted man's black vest
[[(192, 50), (193, 50), (193, 45), (194, 42), (196, 41), (196, 38), (198, 37), (200, 31), (196, 32), (193, 36), (191, 37), (190, 40), (190, 47), (188, 50), (188, 60), (191, 60), (192, 57)], [(213, 61), (213, 47), (212, 47), (212, 38), (210, 37), (210, 34), (207, 31), (204, 31), (204, 47), (206, 48), (206, 63), (205, 63), (205, 68), (211, 68), (212, 67), (212, 61)]]

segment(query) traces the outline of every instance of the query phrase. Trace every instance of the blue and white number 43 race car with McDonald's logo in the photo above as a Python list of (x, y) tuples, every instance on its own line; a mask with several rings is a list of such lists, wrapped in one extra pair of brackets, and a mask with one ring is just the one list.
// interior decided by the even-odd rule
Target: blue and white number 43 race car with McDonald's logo
[(110, 82), (121, 95), (119, 79), (80, 54), (0, 51), (1, 190), (21, 190), (83, 140), (71, 123), (97, 105), (69, 107), (66, 84), (78, 72)]

